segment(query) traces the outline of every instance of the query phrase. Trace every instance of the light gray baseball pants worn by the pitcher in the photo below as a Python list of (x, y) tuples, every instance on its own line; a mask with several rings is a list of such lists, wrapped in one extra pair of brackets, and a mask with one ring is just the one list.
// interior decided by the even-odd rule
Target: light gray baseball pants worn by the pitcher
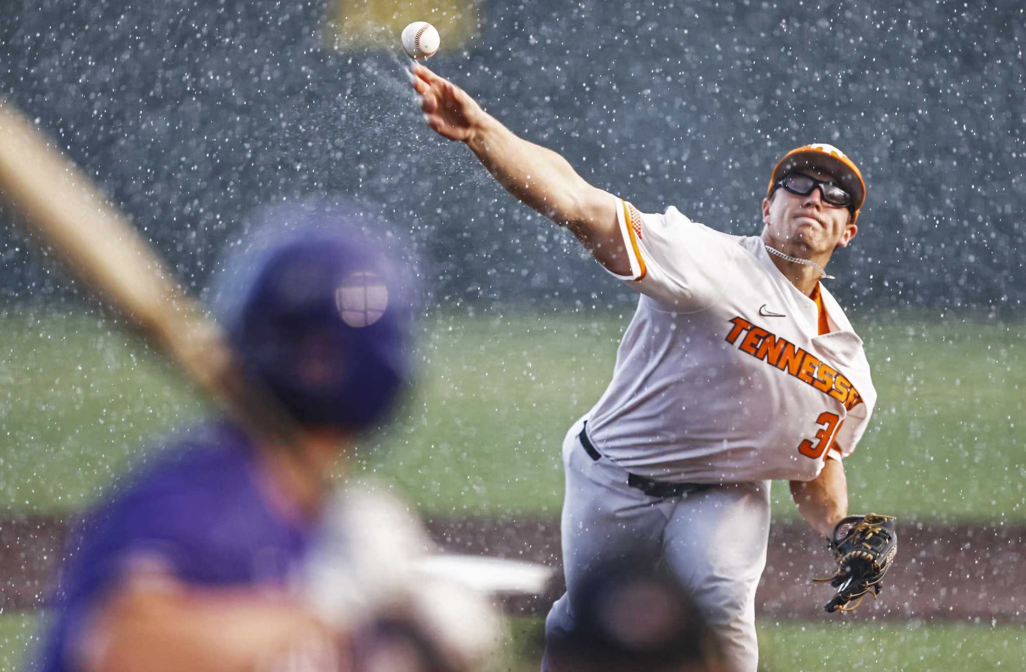
[(755, 672), (755, 588), (766, 560), (770, 481), (649, 497), (628, 486), (627, 472), (608, 459), (591, 459), (578, 438), (582, 426), (579, 420), (563, 440), (566, 593), (549, 611), (546, 639), (573, 631), (576, 590), (590, 566), (626, 553), (662, 558), (716, 634), (728, 669)]

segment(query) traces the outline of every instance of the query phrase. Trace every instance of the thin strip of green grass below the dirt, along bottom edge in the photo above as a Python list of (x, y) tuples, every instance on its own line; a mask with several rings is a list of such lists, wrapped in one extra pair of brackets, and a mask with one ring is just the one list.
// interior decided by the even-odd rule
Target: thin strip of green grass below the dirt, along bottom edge
[[(32, 614), (0, 616), (0, 670), (22, 667), (38, 645)], [(495, 672), (537, 672), (542, 620), (513, 619), (503, 661)], [(762, 672), (1021, 670), (1026, 630), (1021, 625), (785, 622), (759, 623)]]

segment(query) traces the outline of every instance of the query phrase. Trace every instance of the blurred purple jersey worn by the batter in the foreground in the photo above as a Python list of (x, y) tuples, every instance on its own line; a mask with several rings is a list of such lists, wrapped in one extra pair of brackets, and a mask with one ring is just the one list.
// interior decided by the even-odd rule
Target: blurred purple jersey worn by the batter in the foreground
[(255, 458), (253, 444), (236, 427), (205, 426), (105, 500), (73, 537), (69, 548), (78, 550), (69, 558), (35, 669), (71, 669), (68, 642), (133, 558), (157, 559), (196, 587), (285, 584), (313, 528), (272, 510)]

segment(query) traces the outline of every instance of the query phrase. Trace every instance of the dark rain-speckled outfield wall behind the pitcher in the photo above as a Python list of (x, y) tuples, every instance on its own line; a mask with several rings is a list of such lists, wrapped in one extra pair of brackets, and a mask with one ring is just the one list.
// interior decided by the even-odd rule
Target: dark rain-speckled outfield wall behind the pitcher
[[(395, 41), (327, 51), (323, 14), (272, 0), (7, 0), (0, 91), (197, 288), (253, 205), (327, 190), (396, 223), (438, 304), (630, 300), (425, 130)], [(753, 232), (779, 155), (835, 143), (869, 184), (860, 235), (831, 264), (846, 303), (1021, 314), (1020, 2), (486, 1), (481, 16), (466, 50), (430, 65), (596, 185)], [(54, 291), (6, 228), (0, 259), (5, 295)]]

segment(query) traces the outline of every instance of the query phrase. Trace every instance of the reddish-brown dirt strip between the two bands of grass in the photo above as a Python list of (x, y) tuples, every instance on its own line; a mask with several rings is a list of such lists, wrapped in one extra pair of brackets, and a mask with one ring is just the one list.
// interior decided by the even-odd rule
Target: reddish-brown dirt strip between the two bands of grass
[[(546, 518), (426, 520), (438, 543), (460, 553), (559, 566), (559, 523)], [(68, 522), (47, 516), (0, 518), (0, 612), (33, 608), (48, 594)], [(899, 525), (898, 560), (876, 602), (849, 619), (1026, 622), (1026, 526)], [(829, 574), (825, 543), (803, 524), (777, 524), (756, 597), (761, 618), (819, 618), (830, 590), (811, 585)], [(562, 590), (508, 600), (516, 614), (544, 614)]]

